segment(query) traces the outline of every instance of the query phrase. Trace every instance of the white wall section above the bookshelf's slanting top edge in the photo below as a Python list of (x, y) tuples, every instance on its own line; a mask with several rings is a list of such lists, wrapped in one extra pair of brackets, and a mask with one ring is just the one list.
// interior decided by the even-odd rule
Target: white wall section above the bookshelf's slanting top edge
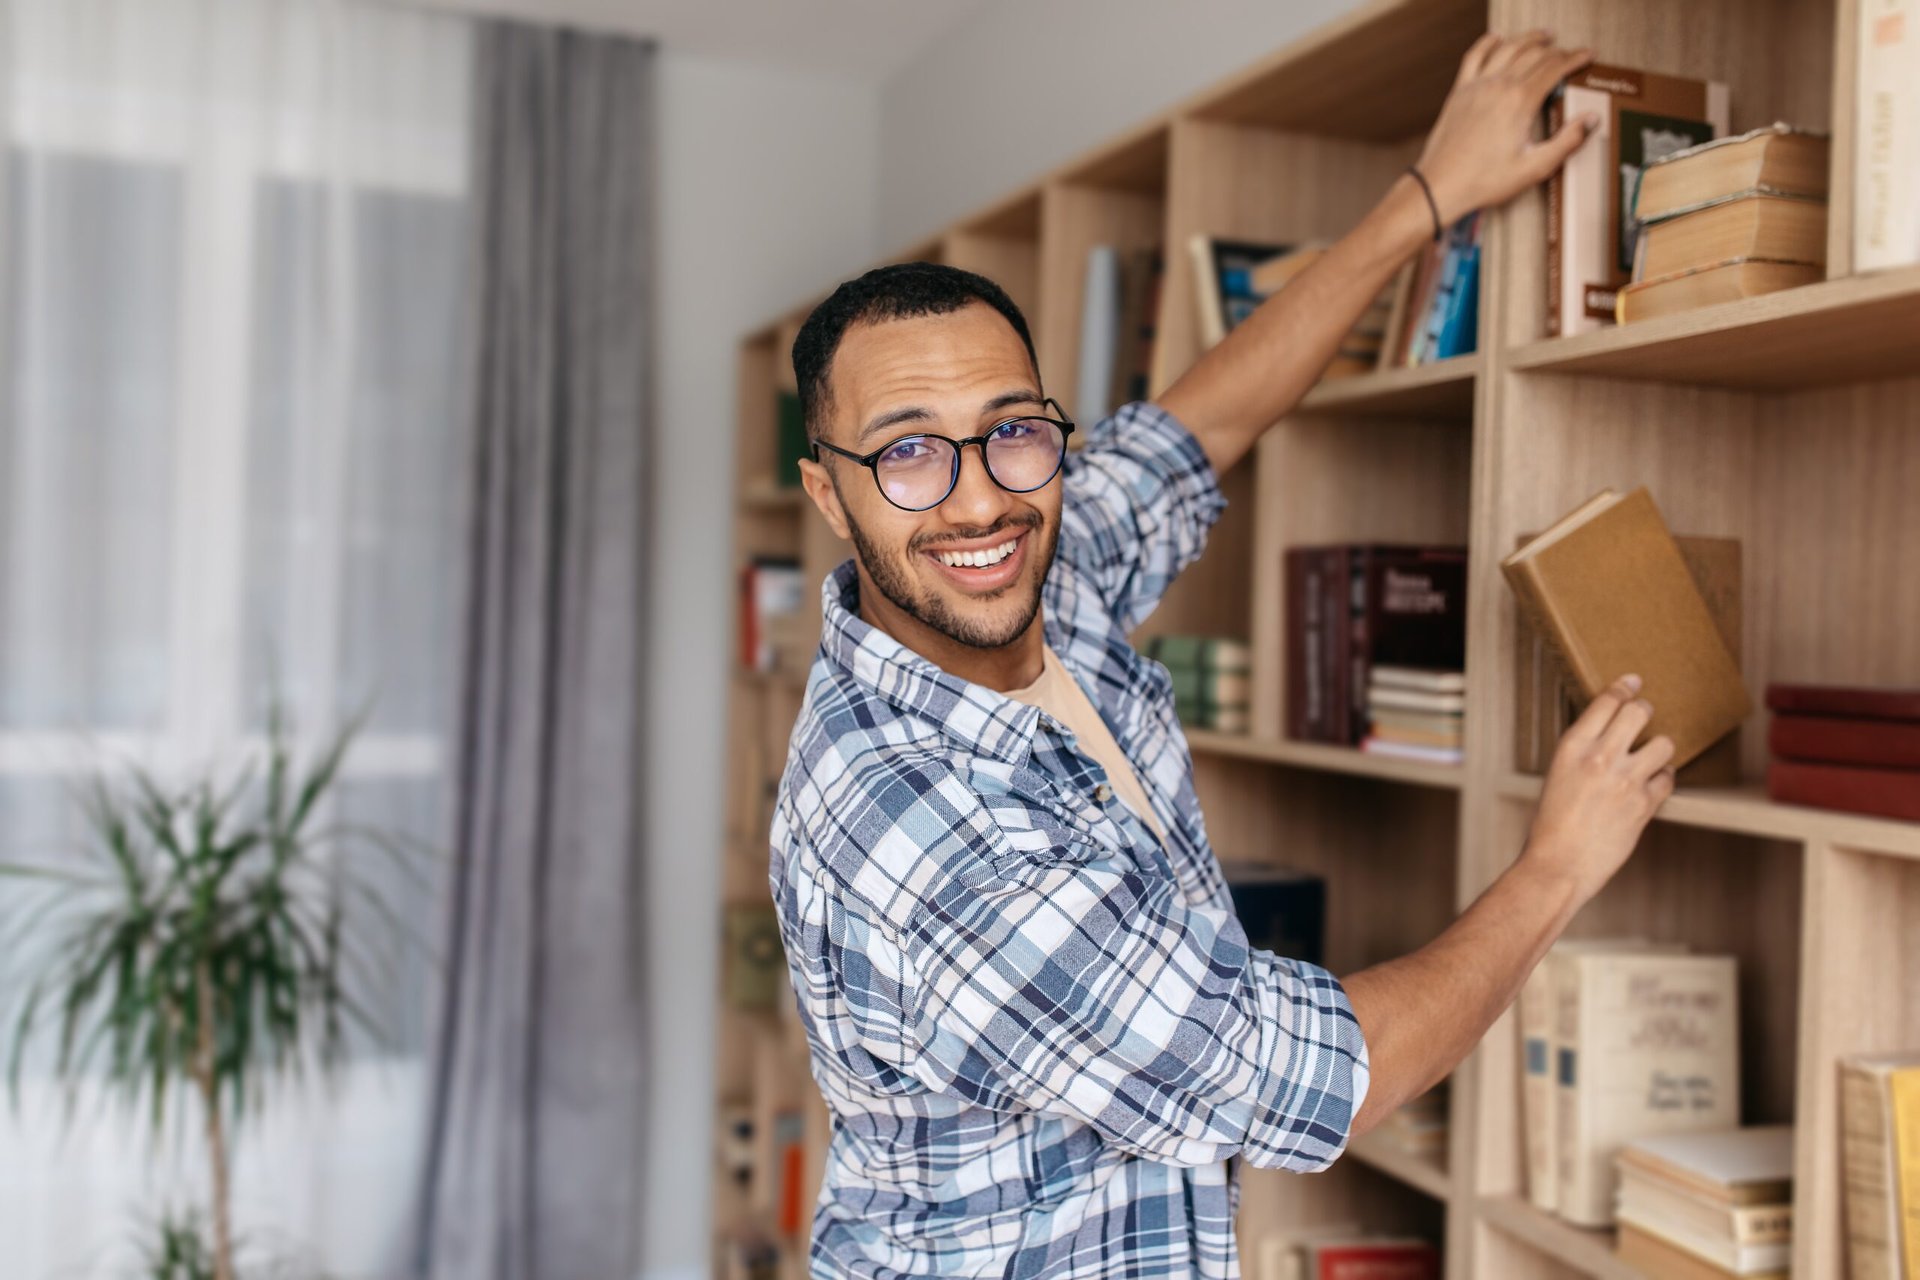
[(995, 0), (881, 86), (881, 251), (1352, 8), (1357, 0)]

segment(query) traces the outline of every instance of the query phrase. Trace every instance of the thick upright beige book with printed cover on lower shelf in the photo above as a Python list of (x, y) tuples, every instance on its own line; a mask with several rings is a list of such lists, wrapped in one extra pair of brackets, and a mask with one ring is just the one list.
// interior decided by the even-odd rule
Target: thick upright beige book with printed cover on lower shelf
[(1732, 956), (1580, 952), (1557, 975), (1559, 1215), (1609, 1226), (1613, 1161), (1636, 1138), (1740, 1123)]

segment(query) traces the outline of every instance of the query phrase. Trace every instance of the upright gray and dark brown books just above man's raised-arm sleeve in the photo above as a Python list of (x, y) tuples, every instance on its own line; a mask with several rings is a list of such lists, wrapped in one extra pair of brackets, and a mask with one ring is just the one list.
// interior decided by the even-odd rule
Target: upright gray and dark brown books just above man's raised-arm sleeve
[(1158, 248), (1096, 244), (1087, 251), (1073, 397), (1081, 422), (1098, 422), (1146, 399), (1164, 274)]

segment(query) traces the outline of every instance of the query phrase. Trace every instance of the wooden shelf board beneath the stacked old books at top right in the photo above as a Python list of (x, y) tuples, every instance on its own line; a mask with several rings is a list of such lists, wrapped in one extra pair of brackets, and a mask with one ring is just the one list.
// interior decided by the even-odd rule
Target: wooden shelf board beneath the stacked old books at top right
[(1738, 390), (1920, 372), (1920, 267), (1843, 276), (1519, 347), (1509, 367)]

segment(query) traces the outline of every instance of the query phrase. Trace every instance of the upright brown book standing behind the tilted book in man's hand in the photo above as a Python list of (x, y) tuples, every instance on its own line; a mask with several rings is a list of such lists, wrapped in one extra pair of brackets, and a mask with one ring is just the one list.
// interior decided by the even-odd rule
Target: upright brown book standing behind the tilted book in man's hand
[[(1532, 533), (1523, 535), (1519, 545), (1532, 541)], [(1674, 537), (1680, 558), (1686, 560), (1688, 574), (1699, 595), (1707, 601), (1715, 629), (1740, 664), (1741, 652), (1741, 555), (1738, 537)], [(1540, 635), (1526, 610), (1515, 620), (1515, 670), (1519, 672), (1519, 702), (1515, 720), (1513, 768), (1523, 773), (1546, 773), (1553, 762), (1553, 748), (1567, 733), (1586, 699), (1567, 674), (1561, 660)], [(1732, 787), (1740, 781), (1740, 731), (1728, 733), (1718, 743), (1684, 766), (1676, 779), (1682, 787)]]

